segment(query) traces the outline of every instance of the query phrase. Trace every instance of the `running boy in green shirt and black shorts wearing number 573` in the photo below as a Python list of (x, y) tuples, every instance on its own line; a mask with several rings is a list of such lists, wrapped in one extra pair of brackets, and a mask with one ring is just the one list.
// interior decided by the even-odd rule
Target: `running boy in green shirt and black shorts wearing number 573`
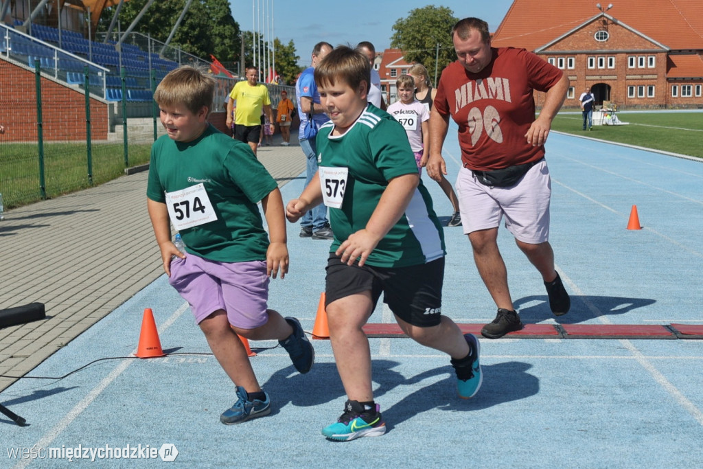
[(480, 347), (475, 335), (462, 335), (441, 315), (443, 231), (403, 127), (366, 103), (368, 60), (337, 47), (318, 64), (315, 82), (330, 122), (317, 136), (319, 171), (288, 203), (286, 215), (295, 222), (323, 201), (330, 208), (335, 240), (325, 307), (348, 400), (337, 423), (322, 433), (349, 441), (385, 433), (373, 401), (370, 349), (362, 329), (381, 293), (406, 335), (451, 356), (464, 399), (481, 386)]

